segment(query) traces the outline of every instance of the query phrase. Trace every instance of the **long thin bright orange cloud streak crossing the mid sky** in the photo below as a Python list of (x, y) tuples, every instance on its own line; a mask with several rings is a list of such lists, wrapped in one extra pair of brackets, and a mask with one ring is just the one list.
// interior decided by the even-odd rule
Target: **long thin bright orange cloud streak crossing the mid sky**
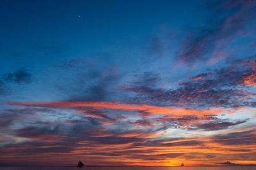
[(108, 110), (122, 110), (122, 111), (143, 111), (149, 114), (163, 114), (163, 115), (216, 115), (223, 113), (225, 110), (220, 108), (213, 108), (208, 110), (191, 110), (184, 108), (167, 108), (162, 106), (154, 106), (149, 104), (127, 104), (114, 102), (52, 102), (52, 103), (19, 103), (9, 102), (9, 105), (28, 106), (28, 107), (42, 107), (42, 108), (95, 108)]

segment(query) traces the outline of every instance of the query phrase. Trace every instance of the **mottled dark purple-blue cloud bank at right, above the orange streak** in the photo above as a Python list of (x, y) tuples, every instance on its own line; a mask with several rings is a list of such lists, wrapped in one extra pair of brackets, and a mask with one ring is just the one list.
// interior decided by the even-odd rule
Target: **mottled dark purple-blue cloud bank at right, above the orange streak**
[[(241, 100), (243, 97), (253, 94), (244, 90), (236, 89), (237, 86), (244, 86), (243, 80), (253, 74), (252, 69), (236, 70), (232, 68), (216, 70), (210, 75), (202, 77), (202, 74), (195, 76), (194, 80), (180, 83), (179, 89), (168, 90), (161, 97), (161, 101), (170, 100), (171, 104), (182, 106), (195, 105), (198, 107), (225, 107), (250, 106), (250, 101)], [(202, 77), (195, 80), (195, 78)], [(154, 96), (153, 96), (154, 97)]]

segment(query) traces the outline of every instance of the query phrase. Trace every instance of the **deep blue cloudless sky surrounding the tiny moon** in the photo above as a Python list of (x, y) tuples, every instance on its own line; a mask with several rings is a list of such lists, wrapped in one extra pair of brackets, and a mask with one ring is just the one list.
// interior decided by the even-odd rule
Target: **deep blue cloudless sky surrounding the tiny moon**
[[(1, 1), (1, 23), (4, 23), (1, 55), (8, 58), (25, 55), (17, 67), (26, 64), (31, 67), (81, 55), (141, 50), (159, 31), (182, 34), (188, 30), (186, 26), (205, 20), (207, 12), (198, 3), (183, 4), (182, 1)], [(61, 56), (44, 56), (60, 52)]]

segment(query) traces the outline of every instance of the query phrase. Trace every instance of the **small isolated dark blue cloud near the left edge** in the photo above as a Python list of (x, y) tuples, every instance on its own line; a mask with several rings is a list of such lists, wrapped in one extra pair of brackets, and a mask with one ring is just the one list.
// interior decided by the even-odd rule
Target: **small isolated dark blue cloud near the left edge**
[(32, 75), (26, 69), (19, 69), (13, 73), (6, 73), (3, 75), (3, 80), (13, 83), (31, 83)]

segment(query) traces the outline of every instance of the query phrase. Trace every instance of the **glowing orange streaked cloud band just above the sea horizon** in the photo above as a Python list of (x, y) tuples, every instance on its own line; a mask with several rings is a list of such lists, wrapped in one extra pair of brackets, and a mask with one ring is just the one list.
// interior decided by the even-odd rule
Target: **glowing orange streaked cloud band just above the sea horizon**
[[(245, 129), (244, 129), (245, 130)], [(96, 135), (106, 132), (106, 129), (100, 129), (95, 132)], [(94, 132), (93, 132), (94, 133)], [(128, 135), (128, 134), (127, 134)], [(129, 134), (127, 137), (135, 137), (141, 134)], [(102, 137), (102, 136), (99, 136)], [(126, 138), (125, 136), (123, 138)], [(196, 145), (194, 141), (200, 141), (202, 144)], [(149, 142), (150, 143), (150, 142)], [(236, 164), (255, 164), (256, 160), (237, 159), (237, 155), (246, 153), (254, 154), (256, 151), (255, 144), (239, 144), (236, 146), (216, 143), (214, 136), (211, 138), (184, 138), (170, 139), (161, 143), (151, 143), (147, 141), (127, 142), (127, 143), (97, 143), (95, 141), (80, 141), (72, 147), (69, 152), (58, 153), (56, 150), (61, 148), (58, 145), (37, 146), (40, 149), (51, 149), (52, 152), (41, 153), (34, 152), (26, 154), (31, 150), (31, 146), (17, 146), (13, 148), (3, 148), (8, 155), (0, 155), (5, 162), (12, 162), (19, 158), (20, 161), (33, 161), (34, 163), (40, 158), (40, 162), (45, 165), (73, 165), (77, 162), (77, 158), (86, 162), (87, 165), (126, 165), (126, 166), (179, 166), (184, 162), (186, 166), (214, 166), (219, 162), (223, 162), (226, 157), (232, 157), (232, 162)], [(55, 152), (54, 152), (55, 151)], [(24, 154), (22, 154), (24, 152)], [(20, 157), (19, 154), (22, 154)], [(207, 159), (206, 155), (218, 155)], [(192, 158), (191, 155), (193, 155)], [(38, 159), (35, 159), (38, 158)], [(67, 159), (68, 158), (68, 159)], [(12, 160), (12, 161), (11, 161)], [(154, 161), (152, 161), (154, 160)], [(65, 161), (65, 162), (63, 162)]]

